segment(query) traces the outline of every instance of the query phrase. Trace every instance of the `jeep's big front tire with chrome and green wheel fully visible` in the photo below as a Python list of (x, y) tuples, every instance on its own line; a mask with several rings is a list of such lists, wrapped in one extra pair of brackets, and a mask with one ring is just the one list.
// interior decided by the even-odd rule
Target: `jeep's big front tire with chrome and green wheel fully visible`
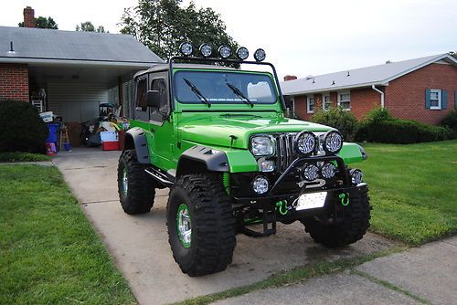
[(216, 174), (188, 174), (176, 181), (166, 207), (168, 241), (183, 273), (225, 270), (236, 244), (232, 201)]

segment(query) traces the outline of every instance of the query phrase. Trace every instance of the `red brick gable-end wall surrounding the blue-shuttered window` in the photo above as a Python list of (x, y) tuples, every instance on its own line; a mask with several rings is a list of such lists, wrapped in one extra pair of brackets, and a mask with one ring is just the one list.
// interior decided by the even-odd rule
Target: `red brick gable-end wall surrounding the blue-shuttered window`
[[(428, 88), (447, 90), (446, 110), (425, 109), (425, 89)], [(386, 108), (400, 119), (437, 124), (453, 109), (455, 90), (457, 67), (431, 64), (390, 81), (386, 87)]]

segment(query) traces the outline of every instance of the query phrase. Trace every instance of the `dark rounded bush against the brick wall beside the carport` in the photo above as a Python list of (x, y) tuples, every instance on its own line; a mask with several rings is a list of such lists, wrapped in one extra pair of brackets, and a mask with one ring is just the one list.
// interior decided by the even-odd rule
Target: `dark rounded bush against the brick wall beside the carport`
[(0, 152), (44, 153), (48, 128), (28, 102), (0, 101)]

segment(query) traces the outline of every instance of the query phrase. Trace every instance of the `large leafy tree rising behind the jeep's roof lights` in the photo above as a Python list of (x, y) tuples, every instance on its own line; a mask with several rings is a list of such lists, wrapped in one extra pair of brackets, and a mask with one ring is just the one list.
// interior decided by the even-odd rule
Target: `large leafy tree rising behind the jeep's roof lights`
[[(124, 9), (121, 33), (131, 34), (160, 58), (178, 52), (183, 41), (194, 47), (209, 43), (213, 47), (238, 43), (228, 35), (224, 21), (212, 8), (198, 8), (194, 2), (181, 7), (182, 0), (139, 0)], [(216, 51), (216, 50), (215, 50)]]

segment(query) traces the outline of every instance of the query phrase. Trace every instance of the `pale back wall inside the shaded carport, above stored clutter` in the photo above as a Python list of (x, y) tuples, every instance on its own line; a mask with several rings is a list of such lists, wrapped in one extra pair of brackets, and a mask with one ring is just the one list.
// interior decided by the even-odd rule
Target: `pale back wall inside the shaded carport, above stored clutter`
[(63, 121), (89, 121), (99, 116), (99, 105), (108, 102), (108, 89), (85, 83), (49, 83), (48, 110)]

